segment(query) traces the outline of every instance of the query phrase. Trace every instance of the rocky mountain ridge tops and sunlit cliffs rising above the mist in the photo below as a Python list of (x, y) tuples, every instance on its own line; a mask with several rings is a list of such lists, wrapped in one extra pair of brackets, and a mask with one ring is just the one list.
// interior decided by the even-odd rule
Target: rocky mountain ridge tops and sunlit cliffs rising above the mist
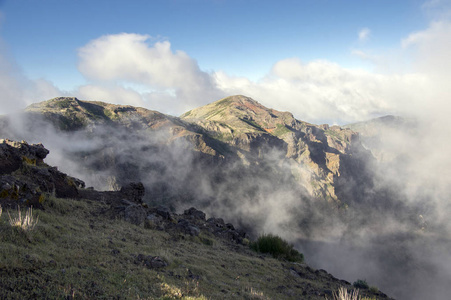
[[(26, 126), (30, 131), (35, 131), (36, 119), (39, 119), (41, 122), (50, 121), (64, 132), (83, 131), (91, 136), (98, 135), (103, 139), (101, 143), (104, 146), (98, 149), (103, 158), (86, 164), (85, 168), (103, 171), (106, 164), (119, 164), (120, 173), (126, 173), (127, 179), (133, 176), (129, 174), (132, 171), (126, 167), (124, 170), (117, 153), (109, 154), (114, 152), (112, 148), (117, 147), (118, 141), (111, 141), (111, 136), (102, 137), (102, 134), (109, 134), (104, 131), (120, 131), (122, 136), (118, 139), (135, 139), (133, 143), (144, 135), (147, 145), (140, 146), (159, 150), (164, 145), (184, 143), (184, 147), (195, 150), (190, 155), (204, 162), (239, 161), (252, 168), (264, 160), (263, 157), (272, 156), (273, 160), (283, 162), (289, 168), (293, 180), (307, 191), (305, 194), (336, 204), (349, 199), (341, 182), (369, 179), (363, 168), (365, 164), (359, 161), (367, 162), (371, 155), (365, 153), (355, 132), (338, 126), (308, 124), (296, 120), (288, 112), (265, 108), (244, 96), (219, 100), (187, 112), (181, 118), (143, 108), (75, 98), (56, 98), (33, 104), (25, 114), (26, 118), (33, 119)], [(5, 126), (2, 128), (4, 133), (10, 134)], [(133, 158), (125, 160), (133, 161)], [(125, 180), (120, 174), (112, 176), (119, 184)], [(139, 174), (134, 177), (142, 179)]]

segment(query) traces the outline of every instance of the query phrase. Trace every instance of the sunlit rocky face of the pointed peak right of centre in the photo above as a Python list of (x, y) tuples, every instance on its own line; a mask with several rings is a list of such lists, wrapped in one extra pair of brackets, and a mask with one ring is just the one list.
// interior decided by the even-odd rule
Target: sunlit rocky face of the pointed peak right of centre
[(368, 177), (362, 162), (372, 157), (356, 132), (299, 121), (289, 112), (268, 109), (245, 96), (191, 110), (181, 119), (234, 148), (244, 162), (258, 163), (276, 151), (289, 163), (298, 184), (318, 199), (340, 203), (340, 181)]

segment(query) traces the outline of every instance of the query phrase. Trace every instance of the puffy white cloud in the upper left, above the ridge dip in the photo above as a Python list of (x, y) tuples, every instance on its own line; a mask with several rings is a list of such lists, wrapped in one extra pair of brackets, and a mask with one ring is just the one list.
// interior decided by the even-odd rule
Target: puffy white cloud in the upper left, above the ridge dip
[[(155, 105), (153, 109), (168, 108), (169, 100), (175, 114), (224, 96), (211, 75), (185, 52), (173, 52), (168, 41), (149, 44), (150, 39), (131, 33), (95, 39), (79, 49), (79, 70), (95, 85), (145, 85), (152, 92), (142, 96)], [(93, 85), (89, 90), (89, 95), (95, 95)]]

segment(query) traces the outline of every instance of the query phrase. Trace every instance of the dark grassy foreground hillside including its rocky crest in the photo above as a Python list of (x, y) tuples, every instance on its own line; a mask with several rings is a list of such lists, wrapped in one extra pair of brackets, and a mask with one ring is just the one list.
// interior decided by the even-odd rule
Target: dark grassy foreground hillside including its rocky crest
[[(242, 230), (195, 208), (149, 207), (140, 184), (86, 189), (47, 165), (42, 145), (2, 140), (0, 150), (0, 164), (9, 165), (0, 176), (2, 299), (324, 299), (353, 288), (324, 270), (252, 251)], [(29, 205), (37, 225), (11, 226), (15, 210)], [(375, 288), (361, 295), (388, 299)]]

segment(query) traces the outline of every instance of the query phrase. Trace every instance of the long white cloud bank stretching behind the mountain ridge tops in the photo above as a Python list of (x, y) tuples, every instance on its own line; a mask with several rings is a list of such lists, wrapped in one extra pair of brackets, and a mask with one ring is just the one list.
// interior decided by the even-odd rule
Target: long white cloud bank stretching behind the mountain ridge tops
[[(359, 38), (369, 34), (364, 28)], [(78, 68), (89, 84), (75, 93), (84, 99), (174, 115), (227, 95), (244, 94), (312, 123), (345, 124), (384, 114), (430, 118), (442, 111), (438, 107), (447, 105), (450, 35), (450, 23), (437, 21), (401, 40), (397, 57), (387, 56), (384, 63), (391, 59), (396, 65), (402, 57), (409, 61), (408, 70), (377, 73), (293, 57), (276, 62), (258, 81), (220, 70), (205, 72), (187, 53), (172, 50), (168, 41), (153, 42), (148, 35), (130, 33), (106, 35), (79, 49)], [(371, 56), (359, 49), (352, 52)]]

